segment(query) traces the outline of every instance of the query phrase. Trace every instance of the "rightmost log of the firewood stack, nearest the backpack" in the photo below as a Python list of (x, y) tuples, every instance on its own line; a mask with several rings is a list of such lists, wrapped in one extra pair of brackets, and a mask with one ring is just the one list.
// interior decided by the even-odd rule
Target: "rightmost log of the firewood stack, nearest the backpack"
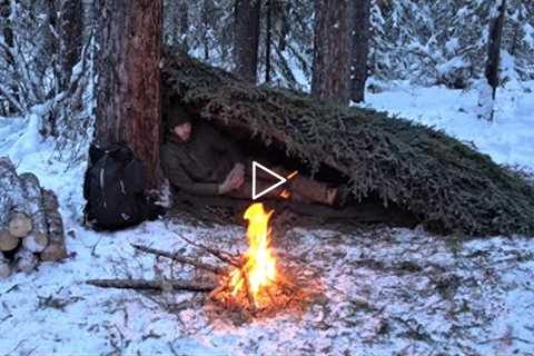
[(67, 257), (63, 221), (59, 214), (58, 198), (51, 190), (42, 189), (42, 205), (48, 229), (48, 246), (41, 253), (41, 260), (60, 260)]

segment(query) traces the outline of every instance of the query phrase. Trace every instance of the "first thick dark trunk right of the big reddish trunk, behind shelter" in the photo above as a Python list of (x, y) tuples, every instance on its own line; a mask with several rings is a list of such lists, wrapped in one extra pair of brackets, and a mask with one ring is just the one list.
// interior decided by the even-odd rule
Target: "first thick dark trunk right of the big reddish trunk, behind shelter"
[(236, 0), (235, 72), (251, 83), (257, 80), (260, 9), (260, 0)]

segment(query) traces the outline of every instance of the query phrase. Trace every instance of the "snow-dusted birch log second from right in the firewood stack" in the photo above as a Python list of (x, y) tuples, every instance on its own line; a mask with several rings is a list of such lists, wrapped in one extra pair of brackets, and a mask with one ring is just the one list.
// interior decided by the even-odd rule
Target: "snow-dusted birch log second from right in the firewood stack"
[(28, 212), (33, 226), (33, 229), (23, 238), (22, 245), (32, 253), (42, 253), (48, 245), (48, 231), (39, 179), (33, 174), (22, 174), (20, 181), (26, 192)]

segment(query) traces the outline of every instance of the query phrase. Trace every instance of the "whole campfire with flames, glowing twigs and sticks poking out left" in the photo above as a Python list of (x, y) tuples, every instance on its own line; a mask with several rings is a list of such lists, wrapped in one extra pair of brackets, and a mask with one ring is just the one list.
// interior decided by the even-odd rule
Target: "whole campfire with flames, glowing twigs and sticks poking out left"
[[(263, 204), (255, 202), (245, 211), (248, 221), (248, 249), (240, 254), (184, 240), (214, 256), (224, 266), (207, 264), (198, 258), (179, 253), (169, 253), (146, 246), (132, 245), (137, 250), (170, 258), (174, 261), (195, 266), (200, 276), (195, 280), (144, 280), (144, 279), (97, 279), (88, 284), (106, 288), (190, 290), (209, 293), (206, 301), (216, 315), (220, 312), (238, 312), (246, 317), (271, 316), (283, 310), (304, 308), (313, 297), (320, 295), (317, 279), (304, 274), (306, 266), (298, 265), (296, 258), (280, 254), (279, 258), (271, 243), (270, 218), (274, 210), (267, 211)], [(198, 276), (198, 274), (197, 274)], [(207, 283), (198, 280), (208, 280)]]

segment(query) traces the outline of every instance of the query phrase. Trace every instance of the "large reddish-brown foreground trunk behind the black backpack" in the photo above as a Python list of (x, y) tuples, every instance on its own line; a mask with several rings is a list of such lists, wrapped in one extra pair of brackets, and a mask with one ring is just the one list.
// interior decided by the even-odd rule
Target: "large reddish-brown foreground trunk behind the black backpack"
[(158, 187), (161, 1), (97, 0), (96, 141), (126, 142)]

